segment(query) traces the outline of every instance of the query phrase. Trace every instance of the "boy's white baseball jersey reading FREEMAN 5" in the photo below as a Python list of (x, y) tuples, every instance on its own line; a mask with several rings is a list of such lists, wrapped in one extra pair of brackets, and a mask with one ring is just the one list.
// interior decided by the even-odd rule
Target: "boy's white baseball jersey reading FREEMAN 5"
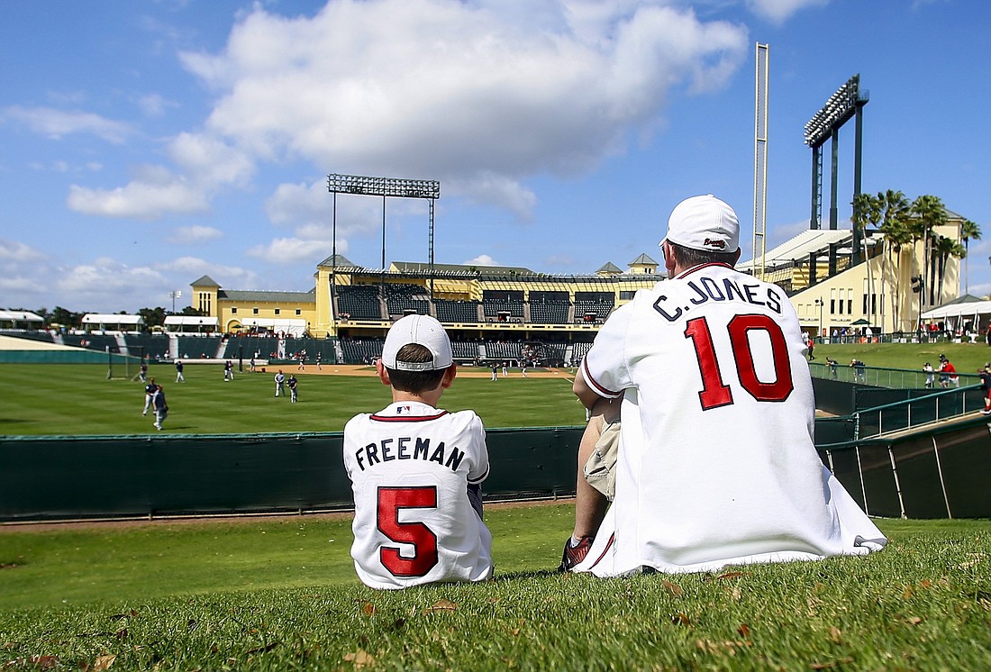
[(355, 496), (358, 577), (396, 589), (492, 576), (492, 534), (468, 499), (489, 475), (482, 420), (396, 401), (344, 428), (344, 466)]

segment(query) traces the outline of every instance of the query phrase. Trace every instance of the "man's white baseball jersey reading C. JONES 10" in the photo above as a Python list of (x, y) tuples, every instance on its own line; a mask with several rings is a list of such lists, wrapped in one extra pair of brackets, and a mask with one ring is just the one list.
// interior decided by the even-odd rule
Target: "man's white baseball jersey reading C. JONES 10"
[(582, 365), (623, 392), (615, 500), (579, 571), (819, 559), (886, 539), (816, 453), (798, 317), (778, 286), (707, 264), (641, 289)]

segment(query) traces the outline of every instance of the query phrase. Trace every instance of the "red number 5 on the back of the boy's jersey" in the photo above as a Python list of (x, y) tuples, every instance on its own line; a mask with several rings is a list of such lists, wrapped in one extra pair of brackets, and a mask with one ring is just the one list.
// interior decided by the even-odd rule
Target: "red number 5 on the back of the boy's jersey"
[(436, 508), (437, 488), (380, 488), (379, 531), (397, 543), (410, 544), (413, 557), (399, 555), (397, 546), (383, 546), (379, 558), (392, 576), (420, 577), (437, 565), (437, 535), (422, 522), (399, 522), (403, 508)]

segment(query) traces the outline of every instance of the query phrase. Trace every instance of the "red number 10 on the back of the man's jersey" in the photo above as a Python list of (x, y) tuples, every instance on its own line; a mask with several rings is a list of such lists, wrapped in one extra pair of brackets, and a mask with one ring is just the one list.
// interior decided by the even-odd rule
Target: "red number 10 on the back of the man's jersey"
[[(726, 325), (732, 351), (733, 366), (740, 386), (758, 401), (784, 401), (792, 393), (792, 368), (788, 361), (788, 344), (781, 327), (767, 315), (736, 315)], [(750, 348), (750, 332), (767, 333), (774, 362), (775, 380), (763, 383), (757, 379), (753, 351)], [(713, 334), (705, 317), (689, 320), (685, 325), (685, 338), (692, 339), (695, 355), (702, 372), (703, 389), (699, 401), (703, 410), (725, 406), (733, 402), (728, 385), (722, 383), (719, 361), (713, 345)]]

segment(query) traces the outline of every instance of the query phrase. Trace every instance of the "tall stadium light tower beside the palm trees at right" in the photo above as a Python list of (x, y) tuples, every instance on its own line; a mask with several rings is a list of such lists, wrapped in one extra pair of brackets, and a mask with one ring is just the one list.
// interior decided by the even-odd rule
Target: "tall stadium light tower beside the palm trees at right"
[[(830, 169), (829, 228), (836, 228), (836, 164), (838, 163), (839, 128), (856, 116), (856, 135), (853, 157), (853, 200), (860, 195), (861, 145), (863, 136), (863, 107), (870, 100), (870, 93), (860, 90), (860, 75), (854, 74), (846, 83), (829, 96), (823, 108), (805, 125), (805, 143), (812, 148), (812, 217), (811, 229), (822, 228), (820, 210), (823, 202), (823, 145), (832, 141)], [(854, 264), (860, 261), (860, 232), (853, 227)], [(829, 259), (830, 273), (835, 270), (835, 260)]]

